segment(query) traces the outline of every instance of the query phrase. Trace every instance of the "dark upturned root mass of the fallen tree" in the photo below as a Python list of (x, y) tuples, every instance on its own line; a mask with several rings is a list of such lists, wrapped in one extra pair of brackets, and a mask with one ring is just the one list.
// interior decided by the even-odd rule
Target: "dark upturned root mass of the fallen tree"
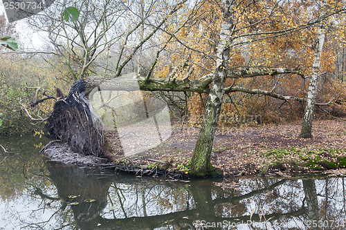
[(62, 140), (84, 155), (102, 155), (103, 124), (84, 94), (84, 79), (75, 82), (69, 95), (55, 102), (46, 123), (48, 135)]

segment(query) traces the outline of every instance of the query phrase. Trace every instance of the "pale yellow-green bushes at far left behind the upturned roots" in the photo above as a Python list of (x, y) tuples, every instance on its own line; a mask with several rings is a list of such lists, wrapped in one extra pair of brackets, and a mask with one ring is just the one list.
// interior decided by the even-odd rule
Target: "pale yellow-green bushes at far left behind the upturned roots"
[[(6, 55), (0, 59), (0, 96), (7, 107), (19, 110), (21, 104), (30, 104), (37, 99), (55, 96), (55, 88), (67, 93), (69, 82), (66, 79), (68, 71), (57, 61), (56, 66), (42, 66), (39, 59), (20, 59), (15, 55)], [(44, 95), (45, 94), (45, 95)], [(32, 109), (37, 117), (44, 117), (53, 110), (55, 100), (48, 99)], [(21, 103), (21, 104), (20, 104)]]

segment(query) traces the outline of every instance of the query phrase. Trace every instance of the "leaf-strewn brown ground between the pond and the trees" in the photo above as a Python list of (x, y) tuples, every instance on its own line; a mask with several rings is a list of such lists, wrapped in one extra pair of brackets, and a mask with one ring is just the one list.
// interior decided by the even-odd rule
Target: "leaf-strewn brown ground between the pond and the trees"
[[(316, 120), (313, 138), (298, 138), (301, 124), (262, 124), (218, 129), (211, 163), (224, 175), (283, 174), (338, 169), (346, 174), (346, 122)], [(115, 133), (107, 133), (114, 162), (140, 169), (165, 169), (187, 173), (185, 166), (194, 150), (199, 128), (172, 126), (172, 135), (162, 144), (143, 153), (127, 156), (118, 147)], [(335, 171), (334, 171), (335, 174)]]

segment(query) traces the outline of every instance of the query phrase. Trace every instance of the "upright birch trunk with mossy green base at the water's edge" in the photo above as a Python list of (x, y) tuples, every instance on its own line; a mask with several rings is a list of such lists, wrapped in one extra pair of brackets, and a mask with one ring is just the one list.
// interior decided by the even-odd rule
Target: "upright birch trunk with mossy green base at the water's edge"
[(224, 22), (221, 23), (220, 43), (217, 48), (217, 68), (212, 78), (212, 88), (204, 111), (204, 119), (201, 131), (194, 147), (194, 153), (190, 161), (190, 173), (193, 175), (207, 175), (212, 170), (210, 155), (214, 140), (215, 128), (221, 111), (222, 99), (225, 93), (225, 82), (230, 55), (230, 34), (233, 28), (232, 11), (230, 1), (222, 1)]

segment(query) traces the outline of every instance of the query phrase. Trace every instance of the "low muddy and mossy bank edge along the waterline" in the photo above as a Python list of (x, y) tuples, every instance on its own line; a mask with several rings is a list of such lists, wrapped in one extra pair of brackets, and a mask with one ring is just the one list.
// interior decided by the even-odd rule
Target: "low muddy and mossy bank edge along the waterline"
[[(272, 157), (273, 164), (268, 164), (264, 169), (255, 169), (253, 166), (245, 165), (247, 171), (217, 175), (219, 177), (236, 177), (244, 175), (296, 175), (297, 173), (334, 173), (346, 176), (346, 157), (334, 157), (334, 160), (327, 161), (318, 157), (325, 154), (323, 151), (309, 152), (310, 158), (304, 158), (299, 164), (297, 162), (284, 162), (282, 161), (282, 154), (288, 154), (286, 149), (273, 150), (277, 157)], [(273, 153), (268, 151), (268, 153)], [(299, 153), (298, 150), (295, 149)], [(346, 150), (344, 150), (346, 152)], [(188, 174), (188, 167), (180, 162), (165, 162), (162, 160), (146, 159), (149, 163), (147, 166), (134, 164), (131, 159), (127, 157), (118, 158), (116, 161), (109, 160), (109, 157), (95, 157), (93, 155), (82, 155), (80, 153), (72, 152), (66, 144), (60, 142), (50, 142), (42, 151), (40, 151), (48, 161), (56, 162), (59, 164), (75, 165), (87, 169), (107, 169), (113, 171), (122, 171), (133, 173), (136, 176), (151, 175), (151, 176), (165, 176), (168, 178), (197, 178)], [(336, 150), (336, 152), (338, 152)]]

